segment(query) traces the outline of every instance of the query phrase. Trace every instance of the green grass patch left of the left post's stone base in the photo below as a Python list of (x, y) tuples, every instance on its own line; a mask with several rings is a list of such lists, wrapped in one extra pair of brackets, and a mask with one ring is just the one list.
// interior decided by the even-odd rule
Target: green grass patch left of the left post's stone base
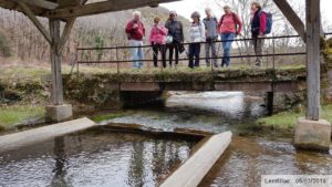
[(25, 120), (43, 117), (42, 106), (0, 106), (0, 131), (12, 129)]

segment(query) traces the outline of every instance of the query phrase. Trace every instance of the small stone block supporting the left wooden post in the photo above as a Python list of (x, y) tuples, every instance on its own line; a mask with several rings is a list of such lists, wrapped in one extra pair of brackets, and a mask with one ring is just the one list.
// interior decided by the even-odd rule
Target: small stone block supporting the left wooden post
[(73, 116), (73, 107), (70, 104), (49, 105), (45, 111), (48, 122), (64, 122)]

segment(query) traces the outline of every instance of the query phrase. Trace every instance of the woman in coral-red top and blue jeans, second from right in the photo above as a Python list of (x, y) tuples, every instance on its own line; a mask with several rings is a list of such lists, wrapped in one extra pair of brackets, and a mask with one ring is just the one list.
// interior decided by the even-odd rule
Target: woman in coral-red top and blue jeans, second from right
[(242, 22), (238, 14), (230, 10), (229, 6), (224, 7), (225, 14), (220, 18), (218, 28), (221, 35), (224, 56), (221, 61), (221, 66), (230, 65), (230, 49), (231, 43), (236, 35), (239, 35), (242, 30)]

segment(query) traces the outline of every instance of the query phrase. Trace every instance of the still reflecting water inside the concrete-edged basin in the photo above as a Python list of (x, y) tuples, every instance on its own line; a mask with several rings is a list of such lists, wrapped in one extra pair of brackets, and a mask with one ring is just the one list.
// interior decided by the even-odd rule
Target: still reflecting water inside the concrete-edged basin
[(156, 186), (196, 142), (95, 129), (0, 154), (0, 186)]

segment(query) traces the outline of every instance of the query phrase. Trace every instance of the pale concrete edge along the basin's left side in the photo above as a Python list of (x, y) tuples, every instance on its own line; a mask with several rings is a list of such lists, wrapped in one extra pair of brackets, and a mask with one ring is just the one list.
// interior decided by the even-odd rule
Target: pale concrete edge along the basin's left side
[(34, 129), (0, 136), (0, 153), (17, 149), (23, 146), (71, 134), (95, 126), (95, 122), (84, 117), (59, 124), (48, 125)]

